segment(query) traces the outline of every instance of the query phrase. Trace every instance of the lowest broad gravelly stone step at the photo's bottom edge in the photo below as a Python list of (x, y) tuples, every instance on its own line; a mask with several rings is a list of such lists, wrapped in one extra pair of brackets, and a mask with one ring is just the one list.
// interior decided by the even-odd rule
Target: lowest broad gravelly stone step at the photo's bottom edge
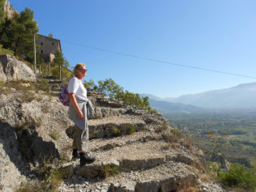
[[(118, 178), (118, 182), (116, 178)], [(127, 178), (130, 181), (126, 181), (128, 180)], [(188, 189), (190, 186), (197, 184), (196, 180), (197, 178), (192, 169), (183, 164), (176, 164), (175, 162), (167, 162), (153, 169), (143, 171), (119, 173), (119, 175), (108, 179), (111, 183), (111, 189), (114, 189), (114, 191), (125, 188), (124, 182), (128, 182), (130, 184), (133, 183), (132, 191), (155, 192)]]

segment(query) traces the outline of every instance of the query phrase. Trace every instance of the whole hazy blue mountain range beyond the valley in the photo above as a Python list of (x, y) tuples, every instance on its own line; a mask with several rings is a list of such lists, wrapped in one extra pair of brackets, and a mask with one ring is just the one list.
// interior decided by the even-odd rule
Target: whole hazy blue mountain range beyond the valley
[(256, 82), (215, 91), (162, 99), (149, 94), (150, 105), (163, 113), (194, 112), (202, 109), (256, 109)]

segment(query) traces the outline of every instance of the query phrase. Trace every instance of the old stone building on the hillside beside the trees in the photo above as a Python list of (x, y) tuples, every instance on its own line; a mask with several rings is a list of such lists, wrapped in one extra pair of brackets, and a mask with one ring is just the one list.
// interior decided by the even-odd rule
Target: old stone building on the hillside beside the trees
[(52, 62), (57, 50), (61, 52), (60, 41), (54, 39), (53, 34), (49, 34), (49, 36), (37, 34), (36, 44), (40, 46), (37, 50), (45, 62)]

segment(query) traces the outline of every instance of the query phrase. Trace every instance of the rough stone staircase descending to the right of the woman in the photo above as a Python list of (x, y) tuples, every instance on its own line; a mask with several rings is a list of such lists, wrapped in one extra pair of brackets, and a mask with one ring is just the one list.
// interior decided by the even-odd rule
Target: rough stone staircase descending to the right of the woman
[[(171, 134), (161, 114), (124, 105), (89, 91), (96, 117), (89, 121), (89, 155), (93, 164), (66, 164), (72, 175), (60, 191), (202, 190), (204, 158), (183, 137)], [(132, 129), (132, 132), (128, 131)], [(165, 139), (170, 134), (173, 140)], [(210, 191), (210, 190), (205, 190)]]

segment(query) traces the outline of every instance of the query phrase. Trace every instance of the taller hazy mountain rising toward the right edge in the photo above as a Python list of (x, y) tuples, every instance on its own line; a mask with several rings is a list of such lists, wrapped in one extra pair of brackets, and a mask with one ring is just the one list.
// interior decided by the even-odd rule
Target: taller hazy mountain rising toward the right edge
[(171, 99), (171, 101), (207, 109), (256, 109), (256, 82), (227, 89), (179, 96)]

